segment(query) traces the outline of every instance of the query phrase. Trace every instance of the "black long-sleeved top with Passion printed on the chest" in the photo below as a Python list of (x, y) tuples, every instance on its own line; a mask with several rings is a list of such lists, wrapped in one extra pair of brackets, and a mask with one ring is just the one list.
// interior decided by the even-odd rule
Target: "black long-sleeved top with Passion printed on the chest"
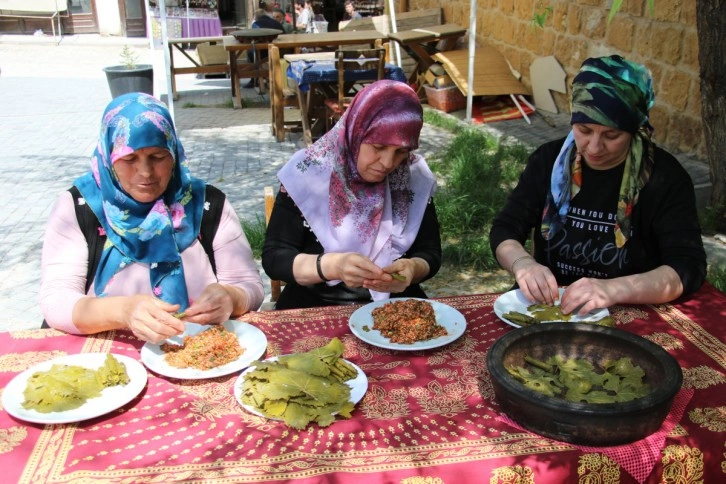
[(614, 222), (625, 164), (593, 170), (582, 164), (582, 187), (570, 202), (565, 225), (550, 239), (541, 233), (542, 211), (552, 167), (564, 139), (542, 145), (529, 158), (519, 184), (494, 219), (492, 252), (507, 239), (524, 244), (533, 230), (534, 256), (552, 270), (560, 285), (581, 277), (608, 279), (640, 274), (661, 265), (681, 278), (683, 294), (706, 277), (706, 253), (696, 198), (688, 172), (670, 153), (655, 148), (655, 166), (633, 208), (632, 234), (615, 246)]

